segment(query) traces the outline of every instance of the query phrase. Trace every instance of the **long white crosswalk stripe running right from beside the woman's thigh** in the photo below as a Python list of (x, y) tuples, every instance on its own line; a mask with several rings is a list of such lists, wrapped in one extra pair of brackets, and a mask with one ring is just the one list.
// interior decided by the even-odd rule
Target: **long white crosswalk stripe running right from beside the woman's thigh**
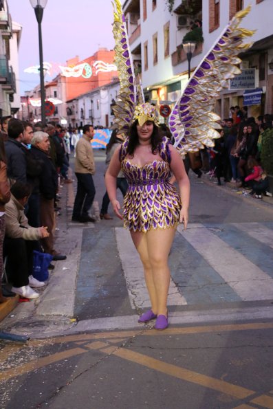
[(254, 263), (219, 239), (201, 223), (188, 226), (186, 232), (179, 225), (177, 231), (232, 287), (242, 300), (270, 300), (273, 280)]

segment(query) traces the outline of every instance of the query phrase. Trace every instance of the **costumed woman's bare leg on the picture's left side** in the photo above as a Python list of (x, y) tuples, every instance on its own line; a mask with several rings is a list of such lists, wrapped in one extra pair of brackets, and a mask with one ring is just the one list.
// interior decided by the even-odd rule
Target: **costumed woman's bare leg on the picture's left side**
[(153, 282), (151, 263), (149, 261), (146, 233), (131, 232), (131, 238), (136, 250), (138, 250), (138, 254), (140, 254), (140, 260), (142, 261), (142, 265), (144, 267), (144, 278), (151, 300), (151, 309), (153, 313), (157, 314), (157, 296), (155, 291), (155, 283)]

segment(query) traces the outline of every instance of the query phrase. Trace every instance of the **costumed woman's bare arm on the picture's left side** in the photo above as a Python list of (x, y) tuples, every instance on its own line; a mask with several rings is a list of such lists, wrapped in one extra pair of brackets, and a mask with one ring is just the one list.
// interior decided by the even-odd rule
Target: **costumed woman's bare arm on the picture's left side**
[(120, 214), (120, 203), (117, 200), (117, 177), (120, 172), (120, 167), (120, 146), (118, 146), (113, 153), (109, 168), (105, 174), (105, 185), (111, 205), (113, 206), (113, 211), (119, 219), (123, 219), (122, 214)]

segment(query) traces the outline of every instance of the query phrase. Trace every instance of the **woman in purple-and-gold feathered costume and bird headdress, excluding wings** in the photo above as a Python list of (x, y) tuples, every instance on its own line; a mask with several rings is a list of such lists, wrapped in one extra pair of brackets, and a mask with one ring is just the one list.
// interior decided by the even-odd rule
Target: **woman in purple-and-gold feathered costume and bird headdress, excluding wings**
[[(120, 169), (129, 183), (123, 217), (116, 199), (116, 177)], [(177, 180), (180, 197), (175, 186), (168, 182), (171, 172)], [(135, 108), (129, 138), (114, 153), (105, 180), (113, 210), (129, 228), (144, 267), (151, 310), (139, 322), (156, 318), (155, 329), (165, 329), (170, 284), (168, 254), (177, 224), (184, 223), (186, 229), (188, 223), (190, 183), (182, 157), (161, 134), (151, 104)]]

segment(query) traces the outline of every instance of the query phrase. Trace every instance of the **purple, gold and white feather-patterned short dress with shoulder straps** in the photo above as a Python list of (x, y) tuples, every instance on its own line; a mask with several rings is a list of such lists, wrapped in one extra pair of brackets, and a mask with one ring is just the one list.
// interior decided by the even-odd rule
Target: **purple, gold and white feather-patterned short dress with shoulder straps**
[(160, 144), (160, 157), (144, 166), (132, 164), (126, 157), (128, 140), (120, 148), (122, 172), (129, 188), (124, 197), (124, 227), (133, 232), (165, 229), (179, 223), (180, 197), (168, 182), (171, 175), (171, 153), (168, 138)]

